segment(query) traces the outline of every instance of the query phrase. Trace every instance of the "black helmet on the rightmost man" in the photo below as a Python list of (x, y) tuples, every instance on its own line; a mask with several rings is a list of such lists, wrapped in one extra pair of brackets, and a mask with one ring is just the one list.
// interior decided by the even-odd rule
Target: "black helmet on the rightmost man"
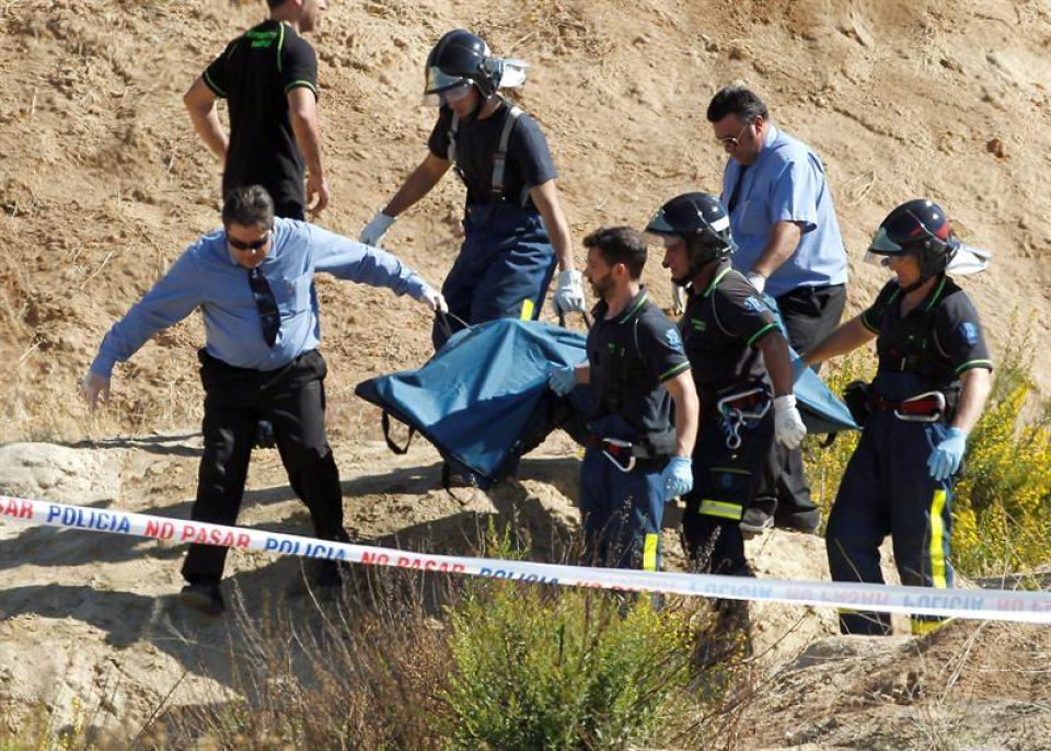
[(934, 201), (915, 198), (887, 215), (868, 252), (885, 257), (913, 254), (920, 265), (920, 284), (944, 274), (960, 247), (949, 220)]

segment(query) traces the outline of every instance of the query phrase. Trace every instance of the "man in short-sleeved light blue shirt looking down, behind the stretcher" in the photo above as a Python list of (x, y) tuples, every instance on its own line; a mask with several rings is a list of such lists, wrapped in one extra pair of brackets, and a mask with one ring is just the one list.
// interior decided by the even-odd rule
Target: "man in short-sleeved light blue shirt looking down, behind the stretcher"
[[(839, 325), (846, 302), (846, 251), (821, 160), (774, 127), (752, 91), (727, 86), (712, 99), (708, 122), (729, 155), (723, 204), (737, 243), (731, 261), (752, 286), (777, 301), (788, 340), (802, 354)], [(741, 528), (815, 531), (802, 454), (775, 446), (763, 486)]]

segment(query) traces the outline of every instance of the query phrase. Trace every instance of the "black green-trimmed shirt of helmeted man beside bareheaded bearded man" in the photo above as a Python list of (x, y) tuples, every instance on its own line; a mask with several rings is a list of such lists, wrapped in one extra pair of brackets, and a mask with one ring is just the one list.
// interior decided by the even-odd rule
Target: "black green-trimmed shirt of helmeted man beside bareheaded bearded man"
[(691, 290), (679, 330), (703, 406), (726, 389), (762, 381), (766, 367), (754, 345), (778, 331), (770, 308), (729, 262), (719, 264), (707, 289)]

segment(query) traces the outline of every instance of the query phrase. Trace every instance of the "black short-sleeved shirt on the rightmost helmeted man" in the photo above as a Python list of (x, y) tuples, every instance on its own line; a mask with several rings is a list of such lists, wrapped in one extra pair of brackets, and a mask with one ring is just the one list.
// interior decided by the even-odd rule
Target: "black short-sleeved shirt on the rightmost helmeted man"
[[(952, 279), (942, 277), (926, 299), (904, 317), (901, 316), (903, 298), (897, 280), (891, 280), (880, 290), (876, 302), (862, 313), (862, 323), (878, 335), (877, 391), (880, 391), (881, 376), (910, 373), (922, 390), (931, 391), (958, 385), (960, 373), (971, 368), (993, 369), (978, 311)], [(890, 378), (882, 380), (893, 382)], [(887, 398), (913, 395), (880, 393)]]

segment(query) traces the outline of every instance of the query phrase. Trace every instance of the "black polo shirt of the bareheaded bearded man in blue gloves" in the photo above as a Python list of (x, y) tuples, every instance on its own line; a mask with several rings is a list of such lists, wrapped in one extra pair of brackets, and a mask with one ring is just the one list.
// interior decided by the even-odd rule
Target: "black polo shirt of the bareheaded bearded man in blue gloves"
[(671, 426), (671, 395), (661, 385), (690, 369), (675, 324), (639, 291), (617, 317), (607, 320), (605, 301), (596, 305), (588, 332), (593, 419), (619, 415), (640, 434)]

